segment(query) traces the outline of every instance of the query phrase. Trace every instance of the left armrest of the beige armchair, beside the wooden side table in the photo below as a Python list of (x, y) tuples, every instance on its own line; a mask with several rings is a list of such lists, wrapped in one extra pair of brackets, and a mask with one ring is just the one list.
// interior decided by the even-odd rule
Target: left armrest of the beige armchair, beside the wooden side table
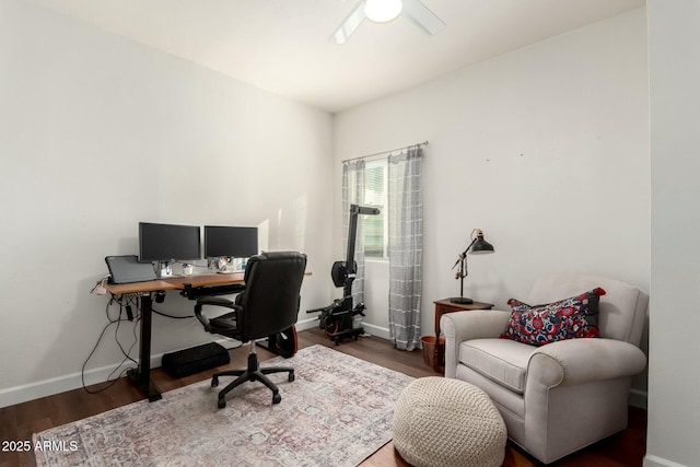
[(465, 340), (499, 337), (505, 330), (511, 312), (474, 310), (455, 312), (440, 318), (445, 335), (445, 377), (455, 377), (459, 345)]

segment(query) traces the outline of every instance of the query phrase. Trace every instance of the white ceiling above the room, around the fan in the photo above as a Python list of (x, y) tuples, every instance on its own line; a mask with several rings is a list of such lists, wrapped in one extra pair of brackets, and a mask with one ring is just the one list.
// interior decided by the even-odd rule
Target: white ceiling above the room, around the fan
[(645, 0), (422, 0), (447, 25), (365, 20), (328, 38), (360, 0), (32, 0), (328, 112), (645, 4)]

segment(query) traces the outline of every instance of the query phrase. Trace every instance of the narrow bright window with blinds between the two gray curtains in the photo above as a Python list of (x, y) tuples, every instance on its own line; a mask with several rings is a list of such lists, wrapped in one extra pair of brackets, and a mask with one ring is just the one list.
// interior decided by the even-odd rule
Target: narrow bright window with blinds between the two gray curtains
[(388, 229), (386, 225), (386, 178), (387, 161), (368, 162), (364, 168), (364, 205), (378, 208), (378, 215), (365, 215), (364, 256), (368, 258), (386, 258)]

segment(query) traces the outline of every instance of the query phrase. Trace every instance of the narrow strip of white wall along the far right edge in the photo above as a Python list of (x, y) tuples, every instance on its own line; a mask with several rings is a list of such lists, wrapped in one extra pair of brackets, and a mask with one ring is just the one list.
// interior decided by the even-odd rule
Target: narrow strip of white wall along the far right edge
[(700, 459), (700, 3), (650, 0), (651, 301), (644, 466)]

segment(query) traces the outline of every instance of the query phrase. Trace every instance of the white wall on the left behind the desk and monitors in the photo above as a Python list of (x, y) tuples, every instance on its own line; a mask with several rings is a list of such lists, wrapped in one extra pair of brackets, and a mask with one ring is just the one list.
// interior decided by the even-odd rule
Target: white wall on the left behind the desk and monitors
[[(105, 256), (138, 253), (139, 221), (265, 224), (269, 249), (332, 261), (330, 115), (18, 0), (0, 2), (0, 406), (80, 385), (107, 323), (90, 291)], [(328, 282), (305, 280), (303, 311)], [(121, 361), (114, 332), (89, 372)], [(154, 354), (211, 339), (154, 318)]]

